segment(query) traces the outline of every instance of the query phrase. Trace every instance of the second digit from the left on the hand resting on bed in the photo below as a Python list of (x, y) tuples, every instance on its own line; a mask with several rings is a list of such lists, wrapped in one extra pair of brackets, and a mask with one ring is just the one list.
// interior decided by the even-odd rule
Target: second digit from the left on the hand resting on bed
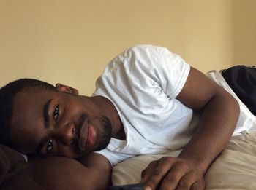
[(151, 189), (155, 189), (162, 179), (167, 175), (170, 168), (173, 166), (175, 159), (172, 157), (164, 157), (159, 159), (159, 163), (154, 170), (151, 171), (151, 175), (145, 182), (145, 186), (150, 186)]

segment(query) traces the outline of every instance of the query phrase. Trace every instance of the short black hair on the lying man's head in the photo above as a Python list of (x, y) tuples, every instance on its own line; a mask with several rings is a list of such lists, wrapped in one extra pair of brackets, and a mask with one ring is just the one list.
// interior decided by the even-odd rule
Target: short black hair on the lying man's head
[(0, 89), (0, 143), (12, 147), (10, 125), (12, 121), (13, 101), (15, 95), (23, 90), (50, 90), (56, 87), (37, 79), (18, 79)]

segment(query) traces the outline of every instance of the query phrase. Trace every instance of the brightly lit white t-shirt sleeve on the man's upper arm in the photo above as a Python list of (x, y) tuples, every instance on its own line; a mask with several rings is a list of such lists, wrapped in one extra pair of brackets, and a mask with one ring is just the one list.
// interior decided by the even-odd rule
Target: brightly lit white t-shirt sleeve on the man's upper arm
[(138, 45), (130, 47), (124, 55), (129, 64), (135, 65), (129, 68), (140, 70), (140, 78), (145, 75), (154, 79), (170, 98), (176, 98), (187, 81), (189, 64), (165, 47)]

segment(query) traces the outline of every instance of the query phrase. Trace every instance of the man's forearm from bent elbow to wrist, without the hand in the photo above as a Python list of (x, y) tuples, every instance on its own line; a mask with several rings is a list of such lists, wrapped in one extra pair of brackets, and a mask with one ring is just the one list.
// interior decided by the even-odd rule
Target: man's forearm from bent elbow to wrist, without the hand
[(211, 162), (225, 148), (238, 121), (239, 107), (226, 92), (214, 96), (203, 108), (193, 138), (178, 156), (195, 164), (204, 174)]

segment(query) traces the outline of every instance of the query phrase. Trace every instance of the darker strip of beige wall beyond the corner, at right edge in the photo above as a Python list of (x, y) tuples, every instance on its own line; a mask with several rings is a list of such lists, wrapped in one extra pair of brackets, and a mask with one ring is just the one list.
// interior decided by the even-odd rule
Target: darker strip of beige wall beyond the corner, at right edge
[(256, 65), (256, 1), (233, 1), (233, 63)]

